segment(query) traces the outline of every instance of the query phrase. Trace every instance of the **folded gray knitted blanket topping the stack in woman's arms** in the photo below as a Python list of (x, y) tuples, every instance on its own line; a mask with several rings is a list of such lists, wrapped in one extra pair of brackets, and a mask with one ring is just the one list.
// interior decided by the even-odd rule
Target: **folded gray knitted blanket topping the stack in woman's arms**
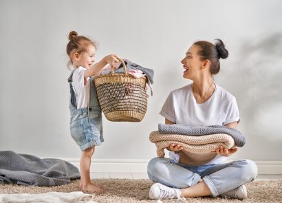
[(186, 136), (204, 136), (217, 133), (226, 133), (233, 138), (237, 147), (243, 147), (246, 143), (245, 137), (237, 129), (223, 125), (210, 125), (206, 127), (182, 125), (182, 124), (159, 124), (160, 133), (175, 133)]

